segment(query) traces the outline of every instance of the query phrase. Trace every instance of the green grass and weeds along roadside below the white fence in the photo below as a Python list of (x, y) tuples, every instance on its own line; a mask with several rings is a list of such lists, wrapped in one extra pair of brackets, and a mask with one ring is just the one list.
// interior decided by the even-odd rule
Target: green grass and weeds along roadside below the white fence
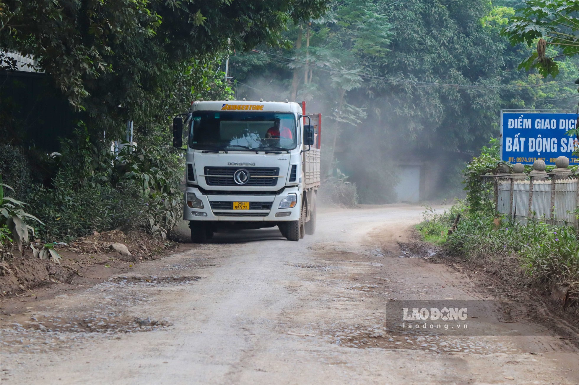
[[(446, 235), (458, 213), (462, 214), (459, 224)], [(508, 216), (471, 212), (460, 201), (442, 212), (427, 208), (423, 217), (416, 229), (424, 241), (499, 269), (501, 276), (524, 276), (520, 282), (568, 285), (570, 295), (579, 298), (576, 229), (540, 220), (522, 224)]]

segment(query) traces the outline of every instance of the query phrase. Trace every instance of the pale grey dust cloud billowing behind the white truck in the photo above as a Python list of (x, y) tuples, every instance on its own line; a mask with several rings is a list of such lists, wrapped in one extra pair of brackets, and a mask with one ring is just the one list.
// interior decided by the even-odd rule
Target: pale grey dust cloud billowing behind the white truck
[[(238, 100), (291, 101), (292, 96), (291, 79), (280, 83), (264, 76), (249, 76), (237, 82), (234, 90)], [(397, 106), (387, 98), (376, 101), (358, 95), (357, 105), (364, 108), (343, 103), (340, 110), (335, 97), (316, 95), (312, 90), (299, 90), (296, 102), (306, 101), (307, 112), (323, 116), (323, 201), (349, 206), (462, 195), (461, 169), (469, 156), (456, 157), (421, 142), (420, 132), (428, 127), (398, 116)]]

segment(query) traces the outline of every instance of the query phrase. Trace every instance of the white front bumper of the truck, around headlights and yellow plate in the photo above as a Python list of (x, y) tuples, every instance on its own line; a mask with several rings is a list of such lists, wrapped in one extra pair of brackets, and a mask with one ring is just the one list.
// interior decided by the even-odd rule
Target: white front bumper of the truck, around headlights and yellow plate
[[(192, 209), (184, 202), (183, 219), (186, 221), (296, 221), (299, 220), (299, 208), (301, 208), (301, 196), (298, 187), (285, 188), (280, 195), (204, 195), (198, 188), (187, 187), (187, 193), (194, 193), (197, 199), (203, 201), (203, 209)], [(291, 209), (278, 209), (282, 199), (288, 194), (296, 194), (298, 201)], [(185, 201), (185, 199), (184, 199)], [(211, 202), (271, 202), (271, 209), (259, 210), (229, 210), (221, 208), (212, 208)], [(207, 216), (194, 215), (193, 213), (205, 213)], [(276, 217), (277, 213), (290, 213), (288, 216)]]

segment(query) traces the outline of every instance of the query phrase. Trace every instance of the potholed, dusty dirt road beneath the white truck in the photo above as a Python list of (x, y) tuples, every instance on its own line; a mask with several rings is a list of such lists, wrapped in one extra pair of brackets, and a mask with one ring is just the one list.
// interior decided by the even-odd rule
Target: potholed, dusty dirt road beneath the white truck
[(394, 298), (492, 298), (444, 263), (399, 258), (420, 212), (324, 210), (299, 242), (216, 234), (28, 302), (0, 321), (1, 383), (579, 383), (576, 347), (524, 320), (544, 335), (388, 334)]

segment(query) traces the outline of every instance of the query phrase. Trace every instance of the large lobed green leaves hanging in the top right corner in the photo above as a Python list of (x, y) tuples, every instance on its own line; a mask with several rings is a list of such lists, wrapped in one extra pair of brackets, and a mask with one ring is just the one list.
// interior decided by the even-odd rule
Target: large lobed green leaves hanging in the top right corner
[[(537, 39), (544, 38), (548, 45), (558, 47), (560, 54), (545, 53), (539, 44), (537, 51), (521, 62), (519, 68), (527, 71), (538, 68), (543, 76), (557, 76), (559, 65), (557, 57), (579, 54), (579, 2), (573, 0), (525, 0), (520, 16), (511, 19), (511, 24), (504, 28), (512, 45), (517, 43), (537, 44)], [(551, 56), (552, 55), (552, 56)]]

